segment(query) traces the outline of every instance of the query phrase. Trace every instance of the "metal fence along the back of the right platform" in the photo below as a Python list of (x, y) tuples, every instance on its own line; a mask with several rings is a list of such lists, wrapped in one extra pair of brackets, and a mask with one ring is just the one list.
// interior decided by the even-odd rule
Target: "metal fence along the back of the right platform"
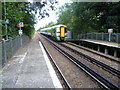
[(111, 41), (111, 42), (120, 42), (120, 33), (87, 33), (75, 35), (74, 39), (94, 39), (94, 40), (103, 40), (103, 41)]

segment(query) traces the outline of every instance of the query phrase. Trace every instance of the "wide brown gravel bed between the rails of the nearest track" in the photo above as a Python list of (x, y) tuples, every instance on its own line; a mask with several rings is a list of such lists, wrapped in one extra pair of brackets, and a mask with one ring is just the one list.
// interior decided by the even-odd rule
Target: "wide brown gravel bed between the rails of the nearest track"
[(40, 36), (40, 39), (49, 50), (72, 88), (100, 88), (92, 78), (53, 48), (44, 38)]

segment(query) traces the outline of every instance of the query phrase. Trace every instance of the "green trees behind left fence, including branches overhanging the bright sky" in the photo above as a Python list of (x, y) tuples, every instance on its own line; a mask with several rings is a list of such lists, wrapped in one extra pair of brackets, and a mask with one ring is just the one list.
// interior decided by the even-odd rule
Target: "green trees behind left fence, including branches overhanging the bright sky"
[[(5, 29), (5, 24), (2, 24), (2, 38), (5, 38), (6, 34), (8, 37), (18, 36), (19, 27), (17, 25), (19, 22), (24, 23), (22, 27), (23, 33), (28, 35), (30, 38), (35, 32), (34, 24), (36, 24), (35, 15), (39, 13), (39, 18), (42, 19), (45, 16), (49, 16), (46, 9), (43, 9), (49, 4), (49, 7), (54, 10), (54, 4), (57, 3), (56, 0), (48, 2), (6, 2), (6, 5), (2, 2), (2, 19), (5, 21), (9, 19), (9, 24), (7, 25), (7, 33)], [(6, 15), (5, 9), (6, 8)]]

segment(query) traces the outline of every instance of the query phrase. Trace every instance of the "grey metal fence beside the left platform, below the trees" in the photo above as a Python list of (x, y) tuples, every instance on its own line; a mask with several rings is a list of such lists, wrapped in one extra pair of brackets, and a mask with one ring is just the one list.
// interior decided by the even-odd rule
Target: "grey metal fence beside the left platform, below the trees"
[(15, 39), (8, 39), (0, 42), (0, 64), (4, 66), (15, 52), (28, 41), (29, 37), (24, 35)]

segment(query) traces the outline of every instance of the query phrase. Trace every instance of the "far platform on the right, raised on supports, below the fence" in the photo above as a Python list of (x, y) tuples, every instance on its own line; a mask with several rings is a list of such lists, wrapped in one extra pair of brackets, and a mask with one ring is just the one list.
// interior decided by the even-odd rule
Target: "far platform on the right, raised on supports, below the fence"
[(91, 49), (94, 49), (98, 52), (102, 52), (106, 55), (114, 56), (115, 58), (120, 58), (120, 44), (109, 41), (102, 40), (93, 40), (93, 39), (72, 39), (68, 40), (68, 42), (73, 42), (76, 44), (80, 44), (81, 46), (85, 46)]

